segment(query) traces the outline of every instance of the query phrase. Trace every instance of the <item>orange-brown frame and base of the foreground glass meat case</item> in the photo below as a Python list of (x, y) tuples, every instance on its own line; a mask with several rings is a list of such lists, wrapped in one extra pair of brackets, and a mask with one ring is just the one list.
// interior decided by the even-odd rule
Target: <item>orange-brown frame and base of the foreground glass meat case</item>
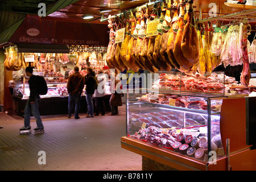
[[(131, 92), (129, 92), (131, 91)], [(207, 115), (208, 121), (211, 121), (211, 117), (218, 115), (220, 116), (220, 136), (223, 148), (223, 155), (212, 160), (212, 156), (207, 157), (207, 160), (201, 160), (191, 158), (188, 155), (180, 154), (164, 148), (162, 146), (156, 146), (155, 144), (148, 143), (138, 138), (134, 138), (129, 133), (129, 110), (131, 108), (131, 93), (132, 94), (143, 94), (153, 93), (154, 89), (127, 89), (126, 95), (126, 136), (121, 137), (121, 147), (126, 150), (135, 152), (136, 154), (142, 155), (143, 159), (148, 158), (154, 160), (156, 163), (164, 164), (178, 170), (251, 170), (256, 169), (256, 150), (250, 150), (251, 146), (246, 144), (246, 97), (248, 94), (201, 94), (201, 93), (188, 93), (188, 92), (174, 92), (167, 90), (159, 90), (157, 93), (160, 94), (172, 94), (177, 96), (189, 96), (189, 97), (201, 97), (207, 100), (207, 110), (200, 111), (196, 110), (197, 113), (203, 113)], [(143, 94), (142, 94), (143, 93)], [(134, 97), (134, 96), (132, 96)], [(138, 96), (137, 96), (138, 97)], [(213, 111), (210, 103), (214, 100), (222, 100), (220, 111)], [(137, 102), (136, 100), (135, 102)], [(147, 102), (147, 101), (146, 101)], [(143, 102), (142, 104), (145, 104)], [(168, 107), (168, 105), (162, 105), (157, 103), (147, 103), (155, 106)], [(139, 104), (137, 104), (139, 105)], [(175, 108), (176, 109), (176, 108)], [(181, 111), (188, 111), (184, 108), (179, 108)], [(190, 110), (191, 111), (191, 110)], [(195, 110), (192, 110), (195, 112)], [(230, 119), (232, 118), (232, 119)], [(211, 125), (207, 125), (207, 139), (211, 135)], [(142, 123), (141, 123), (142, 124)], [(230, 129), (232, 127), (232, 130)], [(212, 150), (209, 146), (209, 151)], [(241, 163), (241, 158), (243, 162)], [(143, 166), (143, 164), (142, 164)], [(148, 169), (148, 168), (147, 168)]]

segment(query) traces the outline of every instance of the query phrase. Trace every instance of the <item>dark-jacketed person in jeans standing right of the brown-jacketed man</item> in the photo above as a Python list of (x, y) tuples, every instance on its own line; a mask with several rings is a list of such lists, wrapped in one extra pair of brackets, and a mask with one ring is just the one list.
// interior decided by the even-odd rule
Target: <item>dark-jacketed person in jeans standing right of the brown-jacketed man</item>
[(86, 102), (88, 107), (88, 115), (86, 118), (93, 118), (93, 94), (94, 94), (94, 84), (95, 84), (95, 73), (93, 72), (93, 69), (90, 67), (86, 68), (86, 76), (85, 76), (85, 96), (86, 96)]

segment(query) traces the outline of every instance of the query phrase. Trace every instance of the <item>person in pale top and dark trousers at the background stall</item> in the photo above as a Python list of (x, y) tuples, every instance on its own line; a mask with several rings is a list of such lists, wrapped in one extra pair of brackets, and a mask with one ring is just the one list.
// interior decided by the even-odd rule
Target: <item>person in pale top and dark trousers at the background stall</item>
[(94, 91), (94, 100), (95, 100), (95, 115), (99, 115), (101, 111), (101, 115), (105, 115), (105, 102), (104, 96), (106, 93), (105, 83), (106, 83), (106, 74), (100, 69), (98, 71), (98, 88)]

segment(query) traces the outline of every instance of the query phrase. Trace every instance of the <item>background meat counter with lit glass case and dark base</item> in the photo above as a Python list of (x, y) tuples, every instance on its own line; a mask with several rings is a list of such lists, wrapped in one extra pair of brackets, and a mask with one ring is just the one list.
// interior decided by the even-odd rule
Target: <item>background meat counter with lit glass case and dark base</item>
[[(43, 72), (33, 72), (34, 75), (43, 76)], [(68, 92), (67, 92), (67, 79), (64, 76), (44, 76), (48, 92), (41, 97), (39, 111), (40, 115), (58, 115), (68, 113)], [(19, 115), (24, 115), (24, 108), (28, 97), (30, 96), (30, 90), (28, 85), (29, 77), (24, 75), (23, 69), (16, 72), (14, 75), (14, 112)], [(106, 95), (105, 95), (105, 109), (110, 111), (109, 99), (110, 99), (110, 82), (106, 82)], [(94, 101), (93, 101), (94, 103)], [(86, 113), (87, 104), (85, 98), (85, 88), (81, 97), (80, 113)]]

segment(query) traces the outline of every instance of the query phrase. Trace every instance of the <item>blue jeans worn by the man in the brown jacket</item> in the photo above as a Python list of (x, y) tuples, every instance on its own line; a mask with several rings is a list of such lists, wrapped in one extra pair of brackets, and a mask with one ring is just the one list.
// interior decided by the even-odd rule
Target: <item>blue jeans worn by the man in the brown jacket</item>
[(71, 117), (73, 110), (73, 103), (75, 101), (75, 118), (79, 118), (81, 93), (68, 94), (68, 116)]

